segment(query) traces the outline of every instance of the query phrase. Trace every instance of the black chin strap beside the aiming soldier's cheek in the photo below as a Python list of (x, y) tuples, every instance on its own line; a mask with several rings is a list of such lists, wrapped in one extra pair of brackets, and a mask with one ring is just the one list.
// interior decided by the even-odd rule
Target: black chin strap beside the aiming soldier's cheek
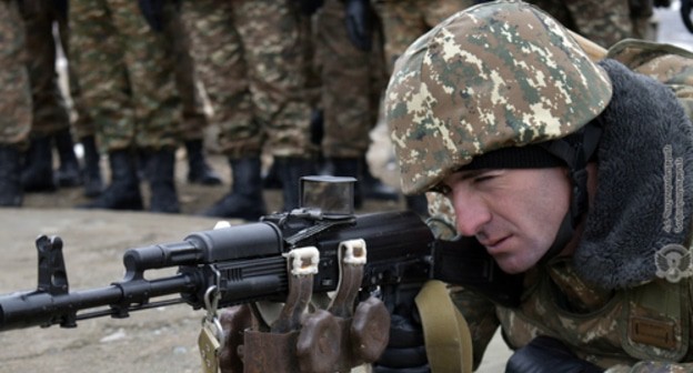
[(571, 202), (563, 221), (559, 226), (553, 244), (541, 261), (546, 262), (558, 255), (573, 239), (575, 228), (586, 214), (589, 208), (587, 195), (587, 162), (596, 151), (602, 129), (590, 122), (580, 131), (558, 140), (542, 144), (551, 154), (565, 162), (569, 169), (569, 179), (572, 185)]

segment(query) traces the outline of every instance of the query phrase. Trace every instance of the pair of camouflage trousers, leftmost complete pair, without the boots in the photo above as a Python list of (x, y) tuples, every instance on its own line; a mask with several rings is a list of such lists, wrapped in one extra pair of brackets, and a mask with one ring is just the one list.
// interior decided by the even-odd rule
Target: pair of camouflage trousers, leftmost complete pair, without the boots
[(104, 151), (177, 147), (171, 50), (131, 0), (70, 2), (71, 63)]

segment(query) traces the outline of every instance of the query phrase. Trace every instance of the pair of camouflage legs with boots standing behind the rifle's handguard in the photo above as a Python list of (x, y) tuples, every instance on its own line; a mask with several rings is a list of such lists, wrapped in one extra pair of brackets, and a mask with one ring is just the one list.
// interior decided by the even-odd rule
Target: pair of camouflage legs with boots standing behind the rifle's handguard
[(284, 210), (299, 205), (299, 180), (315, 172), (307, 98), (305, 23), (289, 0), (185, 0), (183, 23), (210, 98), (231, 192), (202, 213), (255, 220), (265, 213), (262, 161), (273, 155)]

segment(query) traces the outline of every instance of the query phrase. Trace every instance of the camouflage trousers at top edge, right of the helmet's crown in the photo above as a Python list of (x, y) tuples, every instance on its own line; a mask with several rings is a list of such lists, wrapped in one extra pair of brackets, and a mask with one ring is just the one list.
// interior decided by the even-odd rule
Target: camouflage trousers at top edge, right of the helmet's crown
[(528, 0), (566, 28), (609, 48), (633, 37), (629, 0)]

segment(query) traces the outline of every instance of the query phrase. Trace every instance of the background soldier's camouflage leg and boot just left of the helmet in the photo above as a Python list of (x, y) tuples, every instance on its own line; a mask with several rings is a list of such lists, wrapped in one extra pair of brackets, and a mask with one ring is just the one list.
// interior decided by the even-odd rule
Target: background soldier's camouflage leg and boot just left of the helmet
[(386, 83), (378, 23), (368, 0), (328, 0), (315, 22), (324, 118), (321, 150), (331, 167), (329, 173), (359, 180), (356, 208), (364, 198), (399, 198), (371, 175), (365, 162)]

